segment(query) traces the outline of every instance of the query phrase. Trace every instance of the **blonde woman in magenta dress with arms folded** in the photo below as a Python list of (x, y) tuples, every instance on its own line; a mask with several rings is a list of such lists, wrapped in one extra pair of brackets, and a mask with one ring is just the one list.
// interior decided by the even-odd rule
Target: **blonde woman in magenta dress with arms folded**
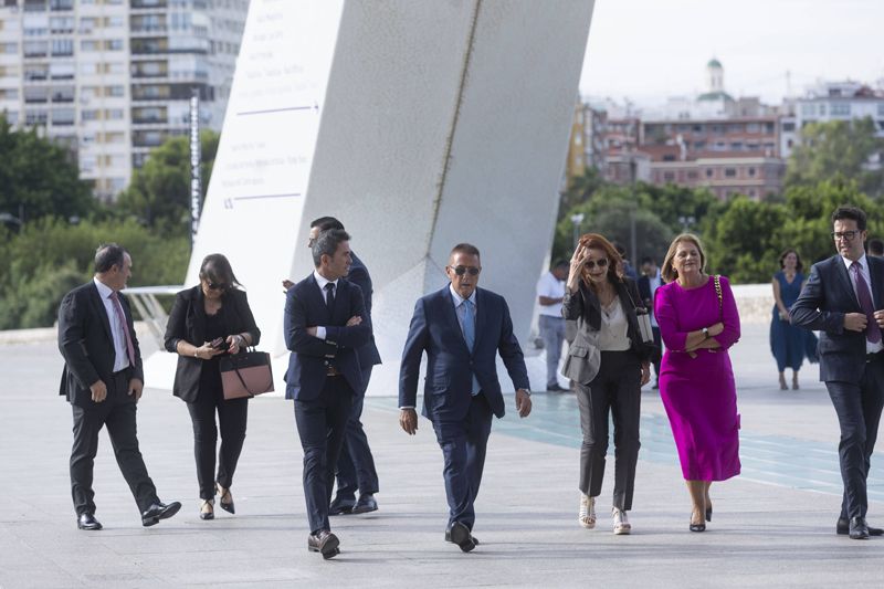
[(739, 339), (739, 315), (724, 276), (704, 272), (699, 239), (675, 238), (663, 262), (654, 316), (666, 346), (660, 396), (670, 418), (687, 491), (691, 530), (712, 520), (709, 486), (739, 474), (739, 414), (727, 349)]

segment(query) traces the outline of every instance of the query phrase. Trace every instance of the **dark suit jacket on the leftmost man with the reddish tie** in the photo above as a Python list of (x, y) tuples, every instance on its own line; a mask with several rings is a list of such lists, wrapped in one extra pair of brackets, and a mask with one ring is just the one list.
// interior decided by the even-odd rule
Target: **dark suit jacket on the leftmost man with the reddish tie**
[[(135, 366), (133, 378), (144, 382), (141, 368), (141, 350), (135, 335), (135, 324), (126, 297), (119, 293), (119, 304), (126, 323), (129, 326), (133, 346), (135, 346)], [(90, 385), (102, 380), (110, 381), (114, 374), (114, 336), (110, 333), (110, 319), (104, 307), (95, 283), (90, 281), (67, 293), (59, 307), (59, 350), (64, 357), (62, 381), (59, 395), (78, 407), (90, 408), (92, 400)]]

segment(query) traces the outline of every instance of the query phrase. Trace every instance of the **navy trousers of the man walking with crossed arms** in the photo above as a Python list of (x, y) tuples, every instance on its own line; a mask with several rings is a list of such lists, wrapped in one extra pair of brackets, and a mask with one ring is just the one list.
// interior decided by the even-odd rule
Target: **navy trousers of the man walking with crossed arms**
[(295, 399), (295, 423), (304, 449), (304, 498), (311, 534), (330, 529), (328, 504), (352, 397), (347, 379), (338, 376), (325, 379), (316, 399)]

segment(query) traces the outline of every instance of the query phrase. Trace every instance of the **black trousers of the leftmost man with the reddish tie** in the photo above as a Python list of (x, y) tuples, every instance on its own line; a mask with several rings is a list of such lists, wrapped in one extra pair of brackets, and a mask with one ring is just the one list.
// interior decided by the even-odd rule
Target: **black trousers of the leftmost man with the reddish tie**
[(107, 427), (114, 446), (114, 456), (129, 485), (139, 512), (158, 502), (157, 488), (147, 474), (147, 466), (138, 450), (136, 425), (137, 404), (129, 397), (131, 370), (116, 372), (107, 386), (107, 398), (90, 407), (72, 404), (74, 414), (74, 445), (71, 449), (71, 496), (77, 516), (95, 513), (95, 492), (92, 488), (95, 454), (98, 452), (98, 432)]

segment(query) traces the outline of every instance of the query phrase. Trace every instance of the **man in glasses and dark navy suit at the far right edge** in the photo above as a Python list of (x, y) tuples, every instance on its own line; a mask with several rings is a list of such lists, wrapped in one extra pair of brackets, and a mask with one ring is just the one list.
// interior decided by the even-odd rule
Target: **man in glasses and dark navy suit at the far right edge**
[(853, 539), (880, 536), (865, 520), (866, 478), (884, 407), (884, 261), (866, 256), (865, 212), (832, 213), (838, 254), (813, 264), (792, 305), (792, 323), (819, 329), (820, 380), (838, 413), (844, 495), (835, 532)]

